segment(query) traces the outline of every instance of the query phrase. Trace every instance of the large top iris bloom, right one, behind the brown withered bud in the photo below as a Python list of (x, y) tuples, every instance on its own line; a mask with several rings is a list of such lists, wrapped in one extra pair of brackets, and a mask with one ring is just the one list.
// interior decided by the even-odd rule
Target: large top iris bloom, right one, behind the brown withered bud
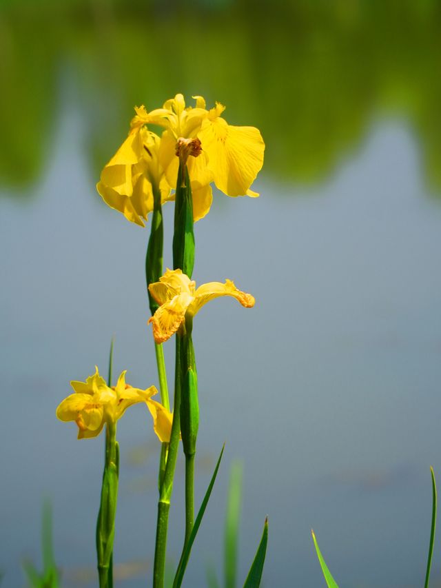
[(167, 100), (163, 108), (148, 112), (143, 106), (136, 109), (132, 126), (143, 124), (160, 125), (165, 128), (161, 137), (159, 161), (167, 181), (176, 187), (178, 158), (176, 141), (197, 138), (202, 144), (200, 156), (190, 157), (187, 162), (192, 181), (194, 220), (201, 219), (212, 203), (214, 182), (227, 196), (258, 196), (249, 187), (263, 165), (265, 143), (255, 127), (229, 125), (221, 116), (225, 106), (216, 102), (214, 108), (205, 108), (205, 99), (194, 97), (195, 108), (185, 108), (183, 94)]

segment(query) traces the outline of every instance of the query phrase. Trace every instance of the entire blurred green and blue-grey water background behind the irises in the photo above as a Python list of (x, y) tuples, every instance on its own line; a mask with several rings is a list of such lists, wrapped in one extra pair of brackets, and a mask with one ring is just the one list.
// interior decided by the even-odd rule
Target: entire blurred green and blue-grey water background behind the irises
[[(94, 185), (133, 106), (176, 92), (224, 103), (267, 144), (260, 199), (216, 193), (196, 225), (196, 281), (232, 278), (257, 303), (221, 299), (196, 319), (197, 502), (227, 445), (186, 585), (205, 585), (209, 565), (221, 578), (236, 459), (239, 578), (268, 515), (267, 587), (323, 584), (311, 527), (342, 587), (422, 585), (429, 465), (441, 480), (440, 25), (438, 0), (1, 1), (4, 586), (25, 584), (23, 558), (40, 561), (44, 496), (63, 585), (96, 585), (103, 440), (76, 440), (54, 411), (71, 379), (105, 372), (112, 334), (116, 372), (156, 383), (148, 227)], [(119, 440), (117, 585), (138, 587), (156, 518), (147, 409), (127, 412)], [(181, 463), (175, 562), (182, 490)]]

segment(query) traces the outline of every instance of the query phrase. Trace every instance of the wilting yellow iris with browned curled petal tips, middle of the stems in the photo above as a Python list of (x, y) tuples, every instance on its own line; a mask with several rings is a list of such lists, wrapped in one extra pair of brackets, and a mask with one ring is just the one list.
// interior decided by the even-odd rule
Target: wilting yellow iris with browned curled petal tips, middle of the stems
[(241, 292), (231, 280), (209, 282), (196, 289), (196, 283), (181, 270), (167, 270), (149, 286), (150, 294), (161, 306), (148, 321), (152, 323), (156, 343), (167, 341), (185, 321), (194, 316), (205, 303), (219, 296), (232, 296), (246, 308), (254, 306), (254, 296)]

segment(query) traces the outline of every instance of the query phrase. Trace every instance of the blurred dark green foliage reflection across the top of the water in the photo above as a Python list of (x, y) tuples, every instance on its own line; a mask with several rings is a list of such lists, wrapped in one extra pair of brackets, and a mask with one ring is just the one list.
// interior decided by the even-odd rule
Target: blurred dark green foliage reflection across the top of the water
[(398, 114), (441, 191), (440, 24), (435, 0), (3, 0), (0, 184), (38, 178), (69, 79), (96, 178), (135, 104), (183, 92), (258, 126), (266, 172), (299, 183), (329, 174), (376, 116)]

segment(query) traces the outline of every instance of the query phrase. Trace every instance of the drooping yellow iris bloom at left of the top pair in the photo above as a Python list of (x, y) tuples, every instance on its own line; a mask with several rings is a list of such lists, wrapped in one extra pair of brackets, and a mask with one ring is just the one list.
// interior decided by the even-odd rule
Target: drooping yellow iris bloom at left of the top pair
[(159, 162), (160, 143), (156, 134), (132, 124), (127, 139), (104, 166), (96, 184), (107, 205), (141, 227), (142, 219), (147, 220), (153, 210), (154, 191), (161, 193), (162, 203), (174, 199)]

